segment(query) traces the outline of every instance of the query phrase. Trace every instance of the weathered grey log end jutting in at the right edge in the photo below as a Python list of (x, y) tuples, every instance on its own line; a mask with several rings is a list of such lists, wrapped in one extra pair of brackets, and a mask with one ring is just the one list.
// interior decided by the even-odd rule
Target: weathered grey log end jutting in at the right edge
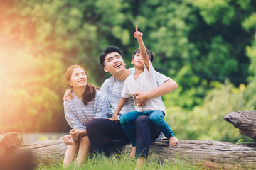
[(235, 111), (224, 116), (224, 120), (239, 129), (242, 135), (256, 140), (256, 111)]

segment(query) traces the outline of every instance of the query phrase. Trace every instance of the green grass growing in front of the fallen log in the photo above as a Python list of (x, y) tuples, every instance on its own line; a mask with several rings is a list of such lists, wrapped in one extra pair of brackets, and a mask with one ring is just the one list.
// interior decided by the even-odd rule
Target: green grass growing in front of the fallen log
[[(82, 164), (82, 166), (78, 167), (76, 164), (70, 164), (68, 169), (65, 170), (131, 170), (135, 169), (136, 159), (130, 159), (127, 156), (127, 153), (118, 154), (107, 157), (98, 157), (92, 156), (90, 159)], [(62, 166), (62, 162), (56, 162), (50, 165), (40, 164), (36, 170), (64, 170)], [(205, 169), (203, 166), (188, 164), (187, 162), (180, 162), (178, 159), (176, 163), (171, 163), (168, 160), (161, 164), (157, 159), (154, 159), (154, 156), (149, 156), (149, 159), (146, 161), (146, 164), (143, 167), (144, 170), (183, 170), (183, 169), (191, 169), (191, 170), (203, 170)]]

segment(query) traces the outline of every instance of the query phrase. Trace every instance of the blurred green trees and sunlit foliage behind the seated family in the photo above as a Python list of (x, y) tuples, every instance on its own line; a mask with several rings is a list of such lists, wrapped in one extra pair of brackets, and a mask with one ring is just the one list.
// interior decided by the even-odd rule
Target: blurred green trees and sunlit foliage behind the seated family
[(244, 138), (223, 116), (256, 107), (256, 1), (4, 0), (0, 11), (1, 133), (68, 132), (65, 69), (81, 64), (100, 86), (110, 45), (132, 67), (138, 25), (154, 68), (178, 83), (164, 96), (176, 136)]

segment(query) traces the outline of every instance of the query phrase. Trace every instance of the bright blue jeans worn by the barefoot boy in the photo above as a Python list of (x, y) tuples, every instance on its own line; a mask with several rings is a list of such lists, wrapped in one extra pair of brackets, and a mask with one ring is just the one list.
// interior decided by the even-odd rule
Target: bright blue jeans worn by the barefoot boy
[(124, 132), (129, 137), (129, 140), (132, 142), (132, 146), (136, 146), (136, 131), (134, 129), (133, 124), (135, 123), (135, 120), (140, 115), (146, 115), (150, 118), (150, 121), (154, 123), (155, 125), (158, 125), (161, 132), (164, 133), (166, 137), (174, 137), (174, 132), (171, 131), (171, 128), (169, 125), (164, 121), (164, 112), (159, 110), (154, 111), (145, 111), (145, 112), (138, 112), (133, 111), (129, 113), (125, 113), (120, 118), (120, 123), (122, 125), (122, 128), (124, 129)]

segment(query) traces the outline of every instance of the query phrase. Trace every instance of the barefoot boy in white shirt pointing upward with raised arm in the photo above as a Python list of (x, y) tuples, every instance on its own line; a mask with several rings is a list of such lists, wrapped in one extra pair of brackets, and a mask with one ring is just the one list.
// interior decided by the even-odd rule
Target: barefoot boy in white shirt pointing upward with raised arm
[(136, 151), (136, 132), (132, 124), (140, 115), (149, 116), (151, 122), (159, 125), (164, 135), (169, 138), (170, 147), (178, 143), (178, 139), (174, 136), (174, 133), (171, 131), (171, 128), (169, 128), (169, 125), (167, 125), (167, 123), (164, 121), (165, 107), (161, 97), (149, 99), (149, 101), (143, 107), (137, 106), (135, 94), (138, 91), (151, 91), (157, 87), (156, 75), (154, 74), (154, 68), (151, 64), (154, 56), (149, 50), (146, 49), (142, 40), (142, 35), (143, 34), (138, 31), (136, 26), (134, 37), (139, 43), (139, 50), (135, 50), (132, 56), (132, 64), (134, 64), (135, 73), (129, 75), (129, 77), (127, 77), (125, 80), (122, 90), (122, 98), (119, 101), (117, 110), (114, 112), (114, 115), (111, 118), (112, 120), (117, 120), (117, 115), (126, 103), (127, 98), (130, 96), (134, 97), (136, 111), (125, 113), (120, 118), (124, 132), (127, 133), (129, 140), (132, 142), (131, 157), (133, 157), (133, 154)]

